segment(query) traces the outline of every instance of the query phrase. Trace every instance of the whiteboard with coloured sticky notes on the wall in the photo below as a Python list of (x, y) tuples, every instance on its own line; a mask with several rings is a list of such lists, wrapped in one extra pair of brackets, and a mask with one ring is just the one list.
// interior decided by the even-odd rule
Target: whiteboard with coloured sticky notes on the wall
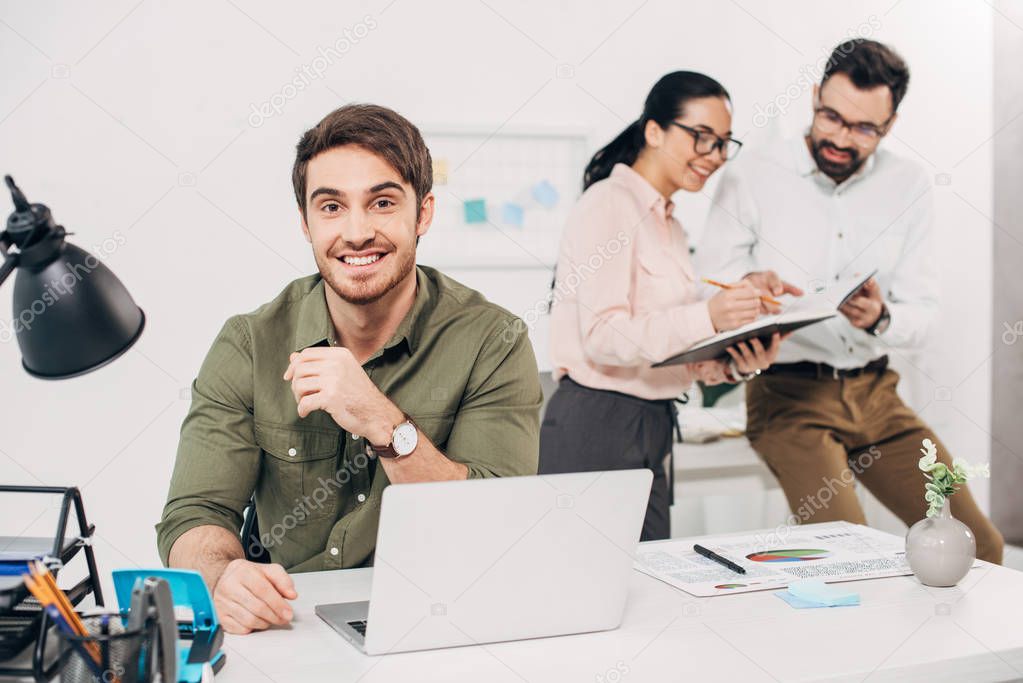
[[(553, 268), (562, 229), (582, 191), (587, 135), (435, 126), (424, 129), (424, 138), (434, 158), (437, 204), (417, 261), (441, 269)], [(486, 217), (472, 211), (475, 221), (466, 219), (466, 201), (474, 209), (482, 201)]]

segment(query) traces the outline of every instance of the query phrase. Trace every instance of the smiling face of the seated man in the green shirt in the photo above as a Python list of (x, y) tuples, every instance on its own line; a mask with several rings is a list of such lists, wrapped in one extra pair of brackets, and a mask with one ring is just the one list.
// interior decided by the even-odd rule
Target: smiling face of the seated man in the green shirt
[(306, 170), (302, 229), (320, 275), (351, 304), (372, 304), (414, 276), (415, 242), (433, 219), (390, 164), (358, 145), (321, 152)]

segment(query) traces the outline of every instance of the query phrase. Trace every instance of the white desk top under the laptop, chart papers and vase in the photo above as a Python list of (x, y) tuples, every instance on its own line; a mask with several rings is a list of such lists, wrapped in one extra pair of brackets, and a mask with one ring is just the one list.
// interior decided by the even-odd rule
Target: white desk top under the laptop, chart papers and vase
[(955, 588), (857, 582), (862, 604), (830, 609), (794, 609), (770, 592), (695, 598), (633, 572), (618, 630), (375, 657), (313, 613), (367, 599), (371, 577), (295, 575), (294, 624), (228, 636), (218, 683), (1023, 679), (1023, 573), (987, 563)]

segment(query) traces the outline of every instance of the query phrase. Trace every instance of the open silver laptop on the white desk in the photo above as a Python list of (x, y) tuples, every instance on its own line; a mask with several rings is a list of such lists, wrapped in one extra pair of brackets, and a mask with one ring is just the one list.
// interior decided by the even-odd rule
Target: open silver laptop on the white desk
[(369, 601), (316, 605), (367, 654), (617, 628), (649, 469), (384, 491)]

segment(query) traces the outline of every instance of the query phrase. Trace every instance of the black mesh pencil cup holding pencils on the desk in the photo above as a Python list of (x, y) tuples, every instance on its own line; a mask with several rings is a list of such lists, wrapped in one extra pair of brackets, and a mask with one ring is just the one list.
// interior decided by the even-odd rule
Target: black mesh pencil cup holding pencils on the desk
[(151, 654), (152, 628), (127, 630), (121, 618), (82, 620), (88, 636), (60, 632), (60, 681), (63, 683), (145, 683), (140, 666)]

